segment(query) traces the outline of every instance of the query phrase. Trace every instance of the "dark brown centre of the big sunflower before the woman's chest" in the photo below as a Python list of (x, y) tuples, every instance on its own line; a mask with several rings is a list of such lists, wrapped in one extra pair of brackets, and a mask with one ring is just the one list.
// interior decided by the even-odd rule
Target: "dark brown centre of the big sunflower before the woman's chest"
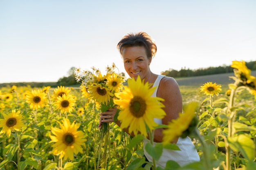
[(143, 98), (135, 96), (130, 100), (129, 109), (133, 116), (140, 118), (146, 113), (146, 102)]

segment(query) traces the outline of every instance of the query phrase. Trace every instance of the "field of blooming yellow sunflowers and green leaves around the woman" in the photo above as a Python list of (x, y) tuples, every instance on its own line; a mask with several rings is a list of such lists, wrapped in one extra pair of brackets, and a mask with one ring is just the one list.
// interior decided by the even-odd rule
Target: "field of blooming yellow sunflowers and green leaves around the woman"
[[(226, 89), (214, 82), (181, 86), (184, 111), (168, 125), (149, 121), (153, 112), (164, 116), (161, 98), (150, 98), (150, 84), (140, 78), (126, 81), (113, 71), (114, 64), (106, 75), (76, 68), (80, 87), (1, 87), (0, 169), (256, 170), (256, 77), (244, 61), (233, 61), (231, 67), (234, 83)], [(113, 122), (103, 120), (99, 128), (101, 113), (112, 107), (118, 109), (113, 119), (135, 137)], [(132, 116), (145, 124), (136, 126)], [(154, 145), (157, 128), (164, 128), (164, 142)], [(188, 135), (200, 161), (182, 167), (171, 160), (165, 167), (146, 162), (143, 139), (148, 132), (146, 150), (153, 160), (163, 148), (179, 150), (170, 141)]]

